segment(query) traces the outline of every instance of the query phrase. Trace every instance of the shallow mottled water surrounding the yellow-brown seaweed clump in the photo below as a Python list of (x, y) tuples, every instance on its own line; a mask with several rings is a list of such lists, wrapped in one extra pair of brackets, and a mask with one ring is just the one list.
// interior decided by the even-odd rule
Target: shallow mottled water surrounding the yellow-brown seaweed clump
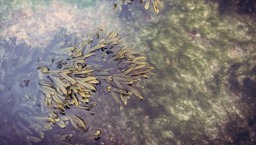
[[(70, 112), (83, 116), (88, 132), (101, 128), (99, 140), (53, 125), (36, 144), (56, 144), (66, 132), (79, 134), (74, 140), (85, 144), (256, 144), (255, 14), (214, 1), (166, 0), (159, 14), (137, 3), (131, 12), (120, 12), (111, 1), (1, 1), (0, 6), (1, 44), (17, 37), (0, 50), (1, 144), (28, 144), (15, 131), (17, 120), (47, 115), (36, 104), (44, 97), (36, 85), (36, 60), (47, 59), (47, 45), (60, 28), (83, 36), (102, 25), (118, 31), (155, 67), (155, 75), (140, 84), (144, 100), (132, 97), (120, 111), (111, 96), (96, 92), (94, 116)], [(23, 42), (28, 46), (19, 45)], [(28, 50), (32, 55), (24, 53)], [(24, 79), (28, 87), (19, 86)], [(18, 99), (15, 104), (8, 98)], [(19, 109), (21, 116), (15, 116)]]

